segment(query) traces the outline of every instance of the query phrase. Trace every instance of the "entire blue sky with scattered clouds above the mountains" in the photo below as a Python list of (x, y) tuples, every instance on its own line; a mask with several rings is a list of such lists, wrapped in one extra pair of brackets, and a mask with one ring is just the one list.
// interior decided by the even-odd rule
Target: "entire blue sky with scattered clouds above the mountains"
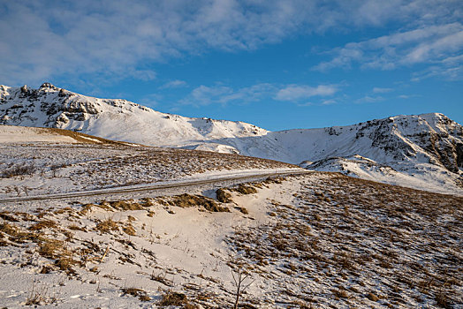
[(463, 124), (461, 0), (0, 0), (0, 85), (271, 131)]

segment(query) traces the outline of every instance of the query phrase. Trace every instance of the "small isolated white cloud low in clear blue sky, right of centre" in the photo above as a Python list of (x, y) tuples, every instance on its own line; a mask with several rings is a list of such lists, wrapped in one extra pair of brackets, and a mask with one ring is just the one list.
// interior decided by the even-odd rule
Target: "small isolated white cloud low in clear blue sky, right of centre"
[(290, 85), (280, 89), (275, 96), (278, 101), (298, 101), (307, 99), (315, 95), (327, 96), (335, 94), (338, 88), (332, 85), (320, 85), (318, 87), (310, 87), (306, 85)]

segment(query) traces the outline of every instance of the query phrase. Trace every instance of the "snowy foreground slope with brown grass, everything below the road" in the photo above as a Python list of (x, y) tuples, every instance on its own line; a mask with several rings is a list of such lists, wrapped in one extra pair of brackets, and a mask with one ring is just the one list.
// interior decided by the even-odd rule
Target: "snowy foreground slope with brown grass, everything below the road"
[(4, 205), (0, 305), (226, 308), (239, 271), (246, 308), (463, 304), (462, 198), (323, 172), (189, 193)]

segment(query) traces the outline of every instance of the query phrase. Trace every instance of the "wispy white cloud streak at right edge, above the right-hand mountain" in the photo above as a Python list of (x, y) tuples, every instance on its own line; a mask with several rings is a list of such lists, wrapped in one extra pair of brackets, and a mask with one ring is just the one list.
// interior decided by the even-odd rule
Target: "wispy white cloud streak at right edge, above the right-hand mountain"
[(462, 50), (463, 25), (459, 22), (422, 26), (367, 41), (347, 43), (342, 48), (333, 49), (331, 53), (334, 57), (316, 65), (314, 69), (325, 72), (336, 67), (349, 69), (359, 65), (364, 69), (392, 70), (414, 64), (453, 69), (459, 67), (459, 61), (449, 61), (447, 64), (444, 61), (459, 57)]

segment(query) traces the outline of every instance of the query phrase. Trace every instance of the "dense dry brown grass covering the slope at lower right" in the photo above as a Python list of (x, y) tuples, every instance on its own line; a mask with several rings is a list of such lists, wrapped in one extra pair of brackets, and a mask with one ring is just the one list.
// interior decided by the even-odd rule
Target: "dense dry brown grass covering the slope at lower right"
[[(355, 299), (383, 299), (378, 294), (405, 307), (418, 299), (441, 307), (463, 302), (455, 292), (463, 280), (456, 250), (463, 234), (463, 198), (339, 174), (300, 179), (307, 179), (306, 185), (292, 194), (290, 205), (271, 202), (268, 214), (275, 223), (229, 237), (231, 247), (262, 266), (263, 274), (268, 271), (263, 260), (284, 265), (269, 274), (281, 275), (276, 284), (281, 282), (282, 290), (296, 279), (316, 279), (319, 293), (340, 283), (348, 287), (317, 298), (325, 305), (333, 298), (340, 307)], [(369, 286), (371, 280), (378, 285)]]

